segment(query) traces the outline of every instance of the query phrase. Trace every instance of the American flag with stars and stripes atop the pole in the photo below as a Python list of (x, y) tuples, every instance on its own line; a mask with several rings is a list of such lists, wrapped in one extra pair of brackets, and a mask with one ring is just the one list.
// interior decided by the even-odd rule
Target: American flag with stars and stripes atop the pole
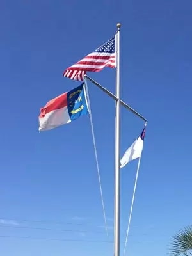
[(98, 72), (104, 67), (116, 67), (115, 36), (100, 45), (94, 52), (85, 56), (76, 64), (68, 67), (63, 76), (73, 80), (83, 81), (87, 71)]

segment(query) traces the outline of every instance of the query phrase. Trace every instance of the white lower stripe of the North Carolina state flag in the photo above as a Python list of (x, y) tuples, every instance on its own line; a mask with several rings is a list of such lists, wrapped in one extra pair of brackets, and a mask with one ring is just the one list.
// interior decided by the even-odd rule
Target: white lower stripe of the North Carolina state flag
[(51, 130), (60, 125), (70, 123), (67, 106), (53, 110), (47, 113), (44, 117), (39, 118), (39, 131)]

